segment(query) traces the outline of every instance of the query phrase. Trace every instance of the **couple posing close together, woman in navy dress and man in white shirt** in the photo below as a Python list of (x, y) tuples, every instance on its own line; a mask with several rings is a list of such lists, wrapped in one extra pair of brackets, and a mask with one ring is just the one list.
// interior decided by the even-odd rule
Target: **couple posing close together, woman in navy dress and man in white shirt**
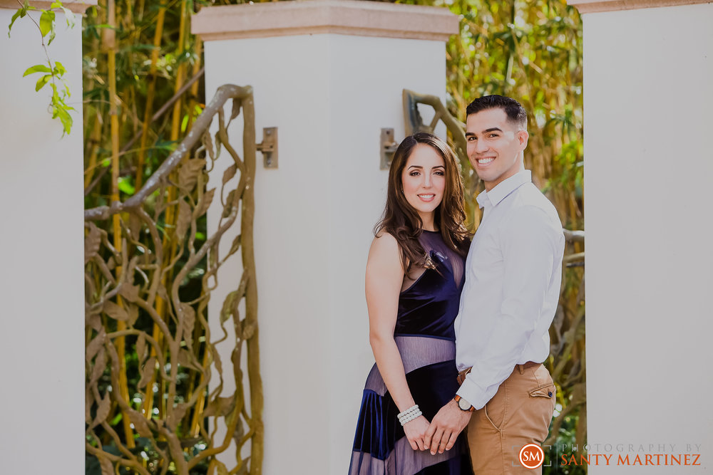
[(458, 160), (443, 140), (406, 137), (391, 162), (366, 263), (376, 364), (350, 475), (541, 473), (518, 456), (542, 444), (555, 407), (542, 362), (562, 226), (524, 168), (523, 107), (489, 95), (466, 115), (468, 159), (485, 184), (472, 242)]

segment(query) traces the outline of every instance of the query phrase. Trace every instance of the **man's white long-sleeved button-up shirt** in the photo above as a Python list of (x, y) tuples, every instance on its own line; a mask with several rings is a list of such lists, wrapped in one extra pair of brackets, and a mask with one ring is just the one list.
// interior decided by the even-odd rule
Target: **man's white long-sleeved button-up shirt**
[(473, 370), (458, 395), (481, 409), (515, 365), (543, 362), (565, 239), (553, 204), (521, 170), (478, 194), (483, 219), (466, 259), (456, 317), (456, 364)]

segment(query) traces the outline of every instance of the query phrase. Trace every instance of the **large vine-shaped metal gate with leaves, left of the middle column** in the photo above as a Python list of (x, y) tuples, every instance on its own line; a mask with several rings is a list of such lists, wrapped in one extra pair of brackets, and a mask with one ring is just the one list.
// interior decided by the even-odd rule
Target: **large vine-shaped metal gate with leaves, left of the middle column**
[[(232, 113), (226, 122), (228, 100)], [(241, 110), (242, 158), (227, 133)], [(232, 165), (222, 184), (210, 188), (221, 150)], [(252, 89), (223, 85), (138, 192), (125, 202), (86, 210), (86, 451), (103, 475), (262, 473), (254, 180)], [(209, 223), (215, 229), (202, 233), (199, 223), (217, 200), (222, 213), (211, 211)], [(107, 219), (114, 220), (115, 236), (94, 224)], [(220, 256), (221, 238), (238, 220), (240, 233)], [(228, 259), (234, 265), (242, 261), (242, 279), (222, 303), (220, 335), (212, 335), (207, 306), (218, 269)], [(197, 275), (200, 289), (184, 288)], [(232, 335), (233, 369), (225, 374), (216, 345)], [(233, 384), (231, 393), (226, 387)], [(228, 449), (237, 459), (230, 468), (217, 459)]]

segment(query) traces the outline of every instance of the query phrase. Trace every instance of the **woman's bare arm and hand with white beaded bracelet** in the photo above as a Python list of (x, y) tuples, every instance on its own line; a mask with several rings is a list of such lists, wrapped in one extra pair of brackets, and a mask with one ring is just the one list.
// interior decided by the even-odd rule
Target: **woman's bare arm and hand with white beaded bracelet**
[[(394, 399), (399, 412), (414, 402), (406, 383), (404, 362), (394, 341), (399, 293), (404, 281), (399, 244), (394, 236), (382, 233), (374, 238), (366, 261), (366, 308), (369, 310), (369, 343), (374, 351), (376, 366)], [(429, 428), (426, 417), (418, 417), (404, 425), (404, 432), (414, 450), (424, 450), (424, 434)]]

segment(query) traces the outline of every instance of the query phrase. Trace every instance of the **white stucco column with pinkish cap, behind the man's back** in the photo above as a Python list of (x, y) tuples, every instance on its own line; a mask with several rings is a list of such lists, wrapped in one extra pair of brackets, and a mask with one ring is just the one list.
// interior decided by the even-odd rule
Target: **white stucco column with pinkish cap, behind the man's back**
[(713, 4), (568, 3), (584, 24), (588, 441), (614, 455), (590, 474), (710, 471)]

